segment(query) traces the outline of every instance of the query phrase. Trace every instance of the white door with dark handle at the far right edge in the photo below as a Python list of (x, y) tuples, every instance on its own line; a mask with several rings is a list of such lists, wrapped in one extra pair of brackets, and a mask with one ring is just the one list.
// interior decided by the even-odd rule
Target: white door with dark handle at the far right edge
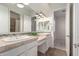
[(79, 3), (73, 4), (73, 55), (79, 56)]

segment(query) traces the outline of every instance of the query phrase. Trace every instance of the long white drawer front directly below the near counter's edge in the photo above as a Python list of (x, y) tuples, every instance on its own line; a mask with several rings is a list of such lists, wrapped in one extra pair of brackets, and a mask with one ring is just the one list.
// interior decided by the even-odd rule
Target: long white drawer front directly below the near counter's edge
[(0, 56), (18, 56), (22, 52), (28, 51), (29, 49), (31, 49), (34, 46), (36, 46), (36, 42), (32, 42), (32, 43), (25, 44), (20, 47), (8, 50), (6, 52), (1, 53)]

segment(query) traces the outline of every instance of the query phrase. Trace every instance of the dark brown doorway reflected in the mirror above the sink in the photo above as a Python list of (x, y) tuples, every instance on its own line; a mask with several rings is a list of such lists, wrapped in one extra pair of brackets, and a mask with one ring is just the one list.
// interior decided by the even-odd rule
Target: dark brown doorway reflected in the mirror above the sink
[(10, 32), (20, 32), (20, 15), (10, 11)]

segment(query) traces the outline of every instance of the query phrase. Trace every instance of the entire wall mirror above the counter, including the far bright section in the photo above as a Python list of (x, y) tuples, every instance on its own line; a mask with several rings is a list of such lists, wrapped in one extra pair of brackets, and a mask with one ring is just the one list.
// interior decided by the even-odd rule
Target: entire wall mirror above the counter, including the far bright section
[[(17, 32), (49, 32), (50, 17), (35, 4), (18, 7), (18, 3), (0, 4), (0, 34)], [(38, 4), (41, 5), (41, 4)]]

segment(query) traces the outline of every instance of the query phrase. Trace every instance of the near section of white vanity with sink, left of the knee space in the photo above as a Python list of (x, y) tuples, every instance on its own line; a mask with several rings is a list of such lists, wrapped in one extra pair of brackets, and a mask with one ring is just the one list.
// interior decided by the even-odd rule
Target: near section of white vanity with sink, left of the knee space
[(17, 41), (0, 40), (1, 56), (36, 56), (37, 37), (20, 39)]

